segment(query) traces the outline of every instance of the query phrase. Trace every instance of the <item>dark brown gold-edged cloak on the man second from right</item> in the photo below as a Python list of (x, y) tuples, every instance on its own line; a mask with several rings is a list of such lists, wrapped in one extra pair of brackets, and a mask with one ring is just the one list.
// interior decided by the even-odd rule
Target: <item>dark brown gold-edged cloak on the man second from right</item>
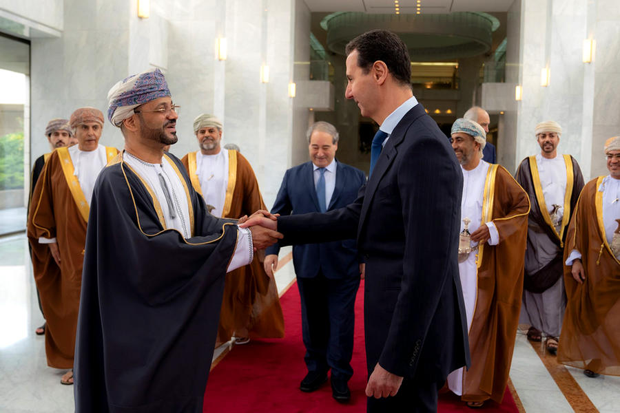
[[(575, 158), (564, 155), (566, 164), (566, 196), (564, 217), (559, 232), (552, 224), (546, 209), (538, 176), (536, 157), (525, 158), (515, 178), (530, 198), (528, 244), (525, 253), (524, 288), (530, 293), (542, 293), (553, 286), (562, 275), (564, 239), (570, 216), (583, 188), (583, 176)], [(568, 213), (567, 213), (568, 211)]]

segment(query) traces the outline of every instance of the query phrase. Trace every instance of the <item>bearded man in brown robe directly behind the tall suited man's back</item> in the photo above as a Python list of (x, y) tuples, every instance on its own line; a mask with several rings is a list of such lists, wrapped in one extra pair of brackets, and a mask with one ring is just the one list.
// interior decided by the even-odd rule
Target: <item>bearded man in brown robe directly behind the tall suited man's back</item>
[(485, 134), (473, 120), (457, 119), (452, 125), (452, 147), (464, 181), (459, 275), (471, 368), (451, 372), (448, 388), (469, 407), (504, 398), (519, 324), (530, 209), (528, 195), (510, 173), (482, 158)]

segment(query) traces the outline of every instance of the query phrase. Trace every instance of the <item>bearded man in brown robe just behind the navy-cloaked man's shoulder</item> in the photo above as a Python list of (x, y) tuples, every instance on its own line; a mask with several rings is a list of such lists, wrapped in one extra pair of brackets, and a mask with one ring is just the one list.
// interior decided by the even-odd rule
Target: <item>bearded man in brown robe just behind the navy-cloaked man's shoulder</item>
[[(221, 218), (241, 218), (266, 209), (247, 159), (238, 151), (220, 147), (221, 121), (201, 114), (194, 119), (194, 134), (200, 150), (187, 153), (181, 162), (209, 212)], [(284, 337), (276, 281), (267, 276), (258, 254), (250, 265), (226, 275), (216, 346), (233, 335), (237, 344), (247, 343), (250, 336)]]

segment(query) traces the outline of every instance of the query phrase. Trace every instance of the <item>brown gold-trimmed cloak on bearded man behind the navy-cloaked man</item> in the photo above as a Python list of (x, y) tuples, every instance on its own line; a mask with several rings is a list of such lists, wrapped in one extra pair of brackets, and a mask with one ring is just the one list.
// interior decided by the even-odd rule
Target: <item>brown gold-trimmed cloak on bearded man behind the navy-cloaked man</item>
[[(247, 159), (238, 151), (229, 150), (229, 171), (223, 218), (241, 218), (258, 209), (267, 210), (262, 201), (258, 181)], [(202, 195), (196, 175), (196, 152), (182, 159), (196, 192)], [(247, 266), (226, 275), (224, 297), (220, 310), (218, 341), (228, 341), (234, 332), (249, 332), (249, 337), (284, 337), (284, 317), (278, 298), (276, 281), (269, 278), (258, 254)]]

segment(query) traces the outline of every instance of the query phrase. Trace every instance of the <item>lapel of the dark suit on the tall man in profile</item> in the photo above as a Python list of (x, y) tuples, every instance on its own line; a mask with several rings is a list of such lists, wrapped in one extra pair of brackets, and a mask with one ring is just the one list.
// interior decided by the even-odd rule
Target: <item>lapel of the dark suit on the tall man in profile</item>
[(358, 237), (362, 233), (364, 223), (366, 222), (366, 214), (368, 213), (370, 204), (373, 201), (379, 182), (381, 182), (383, 176), (390, 169), (394, 159), (396, 158), (398, 153), (398, 145), (400, 145), (404, 140), (405, 133), (407, 129), (409, 129), (409, 126), (411, 126), (417, 118), (423, 116), (424, 114), (426, 114), (426, 112), (424, 112), (424, 107), (422, 104), (418, 103), (412, 107), (409, 112), (402, 117), (398, 125), (396, 125), (388, 141), (386, 142), (385, 147), (381, 151), (377, 164), (375, 165), (375, 169), (373, 169), (373, 173), (368, 180), (368, 184), (366, 184), (366, 191), (364, 191), (364, 202), (362, 203), (360, 222), (358, 224)]

